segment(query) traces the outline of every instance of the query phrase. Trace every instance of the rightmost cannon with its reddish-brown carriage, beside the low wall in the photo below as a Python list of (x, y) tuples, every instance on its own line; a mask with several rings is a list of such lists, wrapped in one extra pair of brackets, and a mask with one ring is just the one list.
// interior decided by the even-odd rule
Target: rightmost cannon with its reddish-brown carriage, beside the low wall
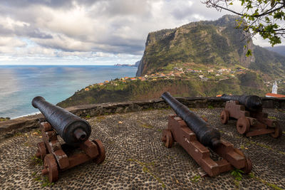
[(221, 122), (226, 125), (229, 120), (237, 120), (237, 132), (246, 137), (271, 134), (278, 138), (282, 135), (279, 123), (270, 120), (262, 111), (262, 100), (257, 95), (222, 95), (227, 101), (221, 112)]

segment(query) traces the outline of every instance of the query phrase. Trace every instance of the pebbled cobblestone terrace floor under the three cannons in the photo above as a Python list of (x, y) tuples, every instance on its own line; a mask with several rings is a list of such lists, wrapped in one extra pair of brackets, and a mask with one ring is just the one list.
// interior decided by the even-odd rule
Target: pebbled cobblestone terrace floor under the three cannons
[[(0, 142), (0, 189), (285, 189), (285, 134), (247, 138), (238, 134), (236, 122), (219, 122), (222, 108), (192, 109), (216, 127), (222, 138), (252, 159), (251, 175), (241, 181), (231, 172), (199, 177), (199, 165), (179, 144), (167, 149), (161, 142), (172, 110), (148, 110), (88, 119), (90, 139), (100, 139), (106, 151), (103, 164), (87, 162), (59, 173), (55, 184), (41, 176), (41, 163), (33, 158), (38, 130)], [(285, 131), (285, 112), (265, 110)]]

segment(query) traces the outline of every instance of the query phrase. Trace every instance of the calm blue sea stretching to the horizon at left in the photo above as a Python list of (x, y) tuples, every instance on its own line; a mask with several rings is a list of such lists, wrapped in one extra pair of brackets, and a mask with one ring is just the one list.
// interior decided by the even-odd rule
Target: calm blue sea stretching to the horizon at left
[(136, 71), (113, 65), (0, 65), (0, 117), (38, 113), (33, 97), (56, 104), (88, 85), (134, 77)]

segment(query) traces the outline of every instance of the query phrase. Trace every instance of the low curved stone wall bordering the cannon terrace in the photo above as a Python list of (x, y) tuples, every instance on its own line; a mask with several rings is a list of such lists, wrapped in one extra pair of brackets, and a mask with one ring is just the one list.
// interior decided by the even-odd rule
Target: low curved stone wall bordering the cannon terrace
[[(177, 97), (177, 100), (188, 107), (224, 107), (219, 97)], [(285, 98), (262, 97), (264, 108), (285, 109)], [(136, 112), (140, 110), (164, 109), (169, 107), (162, 99), (141, 102), (114, 102), (93, 105), (77, 105), (68, 107), (66, 110), (80, 117), (93, 117), (98, 115)], [(38, 121), (44, 117), (41, 114), (20, 117), (14, 120), (0, 122), (0, 139), (11, 137), (19, 132), (27, 132), (38, 127)]]

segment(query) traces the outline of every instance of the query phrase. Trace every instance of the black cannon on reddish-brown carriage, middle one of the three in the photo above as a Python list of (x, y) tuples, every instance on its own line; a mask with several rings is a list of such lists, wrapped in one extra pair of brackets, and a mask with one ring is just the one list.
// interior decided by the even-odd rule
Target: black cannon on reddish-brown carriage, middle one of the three
[[(164, 99), (176, 115), (168, 116), (167, 129), (162, 130), (162, 142), (171, 148), (175, 142), (180, 144), (197, 164), (204, 170), (201, 175), (216, 176), (234, 168), (244, 173), (252, 171), (252, 161), (230, 142), (221, 138), (219, 131), (177, 101), (170, 93), (163, 93)], [(214, 161), (210, 150), (222, 159)]]

